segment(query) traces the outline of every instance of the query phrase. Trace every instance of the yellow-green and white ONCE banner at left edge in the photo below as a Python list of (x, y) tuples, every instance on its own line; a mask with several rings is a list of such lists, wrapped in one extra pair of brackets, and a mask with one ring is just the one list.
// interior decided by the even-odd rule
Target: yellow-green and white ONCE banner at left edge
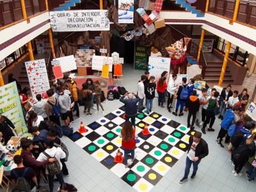
[(0, 99), (0, 113), (13, 123), (18, 136), (28, 132), (15, 81), (0, 87)]

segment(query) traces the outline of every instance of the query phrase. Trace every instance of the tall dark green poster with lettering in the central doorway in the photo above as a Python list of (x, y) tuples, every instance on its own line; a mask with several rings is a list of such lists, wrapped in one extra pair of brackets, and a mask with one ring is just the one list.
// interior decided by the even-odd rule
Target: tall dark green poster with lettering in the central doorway
[(147, 70), (147, 47), (141, 45), (140, 41), (136, 41), (134, 45), (134, 69)]

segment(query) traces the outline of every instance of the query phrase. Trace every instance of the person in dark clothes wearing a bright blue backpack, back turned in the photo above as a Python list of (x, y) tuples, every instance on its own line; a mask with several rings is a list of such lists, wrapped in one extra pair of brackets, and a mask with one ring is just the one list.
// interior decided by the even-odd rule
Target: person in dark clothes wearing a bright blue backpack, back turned
[(177, 101), (176, 101), (176, 107), (175, 107), (175, 112), (172, 112), (173, 115), (177, 116), (178, 114), (178, 109), (180, 106), (180, 113), (179, 116), (184, 115), (183, 108), (184, 104), (186, 103), (186, 100), (188, 99), (188, 86), (186, 84), (187, 78), (182, 77), (182, 84), (179, 86), (179, 90), (177, 92)]

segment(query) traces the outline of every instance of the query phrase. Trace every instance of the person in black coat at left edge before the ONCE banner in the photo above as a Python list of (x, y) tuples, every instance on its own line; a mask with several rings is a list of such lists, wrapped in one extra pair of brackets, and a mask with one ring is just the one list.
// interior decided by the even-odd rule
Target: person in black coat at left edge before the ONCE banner
[(12, 129), (15, 132), (17, 131), (17, 129), (15, 129), (15, 126), (10, 121), (10, 119), (8, 119), (6, 116), (3, 116), (0, 113), (0, 132), (3, 133), (3, 138), (4, 138), (4, 144), (5, 145), (10, 140), (10, 138), (12, 138), (12, 136), (14, 136), (14, 134), (12, 132), (12, 129), (10, 127), (12, 127)]

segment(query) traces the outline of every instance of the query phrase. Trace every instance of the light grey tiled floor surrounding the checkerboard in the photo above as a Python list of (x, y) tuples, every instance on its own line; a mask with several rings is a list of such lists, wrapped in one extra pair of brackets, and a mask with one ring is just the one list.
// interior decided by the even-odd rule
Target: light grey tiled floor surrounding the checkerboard
[[(133, 70), (132, 65), (124, 65), (124, 86), (129, 92), (136, 92), (137, 82), (143, 74), (141, 71)], [(105, 114), (114, 111), (122, 106), (119, 100), (106, 101), (104, 104)], [(80, 108), (83, 114), (83, 107)], [(187, 112), (184, 116), (177, 117), (168, 113), (166, 108), (159, 108), (157, 106), (157, 98), (154, 99), (153, 111), (160, 113), (168, 118), (175, 119), (175, 121), (186, 124)], [(81, 115), (81, 119), (74, 122), (72, 127), (77, 131), (80, 122), (83, 121), (85, 125), (91, 124), (95, 120), (103, 116), (101, 113), (93, 116)], [(230, 163), (230, 154), (227, 153), (227, 148), (221, 148), (216, 145), (215, 138), (220, 130), (220, 120), (217, 118), (214, 124), (214, 132), (207, 132), (203, 135), (205, 141), (209, 145), (209, 156), (202, 159), (199, 164), (198, 173), (195, 180), (188, 180), (184, 184), (179, 184), (179, 180), (184, 175), (184, 166), (186, 155), (166, 173), (163, 179), (152, 189), (152, 191), (255, 191), (256, 182), (247, 182), (245, 171), (243, 168), (242, 177), (234, 177), (232, 174), (232, 163)], [(196, 127), (196, 130), (198, 127)], [(63, 137), (61, 140), (68, 146), (70, 155), (67, 162), (67, 167), (70, 172), (69, 177), (65, 177), (65, 182), (72, 183), (79, 191), (134, 191), (131, 186), (126, 184), (122, 179), (118, 178), (108, 168), (99, 163), (94, 157), (87, 154), (83, 148), (78, 147), (76, 143), (69, 138)], [(55, 184), (55, 189), (58, 184)]]

